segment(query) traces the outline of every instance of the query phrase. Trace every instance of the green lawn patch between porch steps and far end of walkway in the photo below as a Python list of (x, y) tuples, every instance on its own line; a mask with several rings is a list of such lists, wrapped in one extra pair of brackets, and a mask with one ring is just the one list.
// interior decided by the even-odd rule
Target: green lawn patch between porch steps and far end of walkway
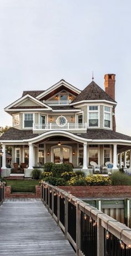
[(7, 186), (11, 186), (12, 193), (36, 193), (36, 185), (39, 185), (39, 180), (6, 180)]

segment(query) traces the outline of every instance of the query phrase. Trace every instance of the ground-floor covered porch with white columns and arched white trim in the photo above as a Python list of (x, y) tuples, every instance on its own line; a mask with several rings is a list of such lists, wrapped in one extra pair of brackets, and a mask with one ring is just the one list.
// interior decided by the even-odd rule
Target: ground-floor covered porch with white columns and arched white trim
[[(82, 137), (82, 134), (72, 134), (63, 130), (48, 131), (34, 138), (24, 139), (19, 142), (2, 142), (3, 177), (8, 177), (12, 170), (6, 167), (5, 153), (7, 146), (12, 147), (12, 168), (14, 163), (17, 163), (18, 172), (20, 172), (22, 169), (21, 165), (24, 164), (24, 177), (31, 177), (33, 168), (43, 169), (44, 163), (48, 162), (56, 164), (71, 163), (74, 169), (82, 169), (86, 175), (95, 171), (90, 162), (95, 162), (99, 165), (100, 171), (98, 173), (118, 170), (121, 167), (120, 163), (122, 164), (120, 156), (123, 151), (126, 152), (131, 148), (131, 143), (122, 143), (109, 139), (103, 141), (90, 138), (85, 139)], [(113, 163), (110, 170), (105, 166), (107, 162)], [(131, 170), (131, 161), (129, 170)]]

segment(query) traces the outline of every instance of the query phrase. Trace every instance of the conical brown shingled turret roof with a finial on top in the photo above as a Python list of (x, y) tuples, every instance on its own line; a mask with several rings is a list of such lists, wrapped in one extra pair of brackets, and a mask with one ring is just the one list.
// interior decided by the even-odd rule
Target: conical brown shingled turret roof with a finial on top
[(94, 81), (92, 81), (85, 89), (73, 100), (72, 103), (80, 101), (106, 100), (115, 102), (107, 93), (104, 92)]

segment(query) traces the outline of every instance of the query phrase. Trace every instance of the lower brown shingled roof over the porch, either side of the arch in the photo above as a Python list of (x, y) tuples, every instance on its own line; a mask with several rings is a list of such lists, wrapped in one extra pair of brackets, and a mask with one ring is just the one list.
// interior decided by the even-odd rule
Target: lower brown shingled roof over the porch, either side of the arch
[[(32, 130), (19, 130), (16, 128), (9, 128), (6, 133), (4, 133), (0, 140), (22, 140), (31, 139), (37, 137), (38, 133), (33, 133)], [(77, 136), (85, 139), (121, 139), (130, 140), (131, 137), (122, 133), (114, 132), (113, 130), (105, 129), (87, 129), (87, 133), (76, 134)], [(64, 136), (64, 134), (63, 134)]]

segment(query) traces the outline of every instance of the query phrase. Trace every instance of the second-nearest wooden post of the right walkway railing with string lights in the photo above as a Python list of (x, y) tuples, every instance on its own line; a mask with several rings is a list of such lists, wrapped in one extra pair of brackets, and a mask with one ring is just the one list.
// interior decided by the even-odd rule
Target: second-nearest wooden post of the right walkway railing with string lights
[[(77, 202), (76, 202), (77, 203)], [(79, 249), (80, 249), (80, 209), (79, 204), (76, 205), (76, 214), (77, 214), (77, 225), (76, 225), (76, 254), (79, 255)]]

